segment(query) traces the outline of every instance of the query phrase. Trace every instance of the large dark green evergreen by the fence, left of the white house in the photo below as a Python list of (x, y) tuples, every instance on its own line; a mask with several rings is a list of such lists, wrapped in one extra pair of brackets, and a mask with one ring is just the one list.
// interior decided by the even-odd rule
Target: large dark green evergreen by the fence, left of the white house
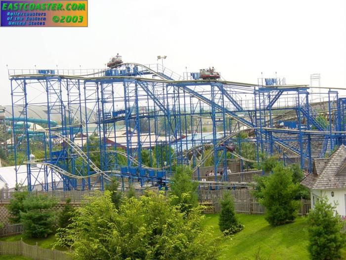
[(291, 170), (277, 164), (273, 174), (263, 180), (263, 186), (259, 202), (266, 207), (265, 219), (269, 224), (278, 226), (293, 221), (300, 202), (295, 200), (299, 184), (292, 182)]

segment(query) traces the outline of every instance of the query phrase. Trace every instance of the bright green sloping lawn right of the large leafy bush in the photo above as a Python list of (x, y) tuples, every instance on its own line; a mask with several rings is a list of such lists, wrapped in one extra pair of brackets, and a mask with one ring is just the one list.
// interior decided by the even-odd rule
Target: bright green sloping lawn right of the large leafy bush
[[(235, 234), (231, 240), (222, 244), (223, 255), (232, 260), (253, 260), (260, 247), (262, 257), (270, 260), (309, 259), (307, 251), (307, 225), (304, 217), (298, 217), (293, 223), (271, 227), (262, 215), (238, 214), (245, 228)], [(207, 214), (205, 226), (213, 226), (215, 235), (218, 229), (218, 214)]]

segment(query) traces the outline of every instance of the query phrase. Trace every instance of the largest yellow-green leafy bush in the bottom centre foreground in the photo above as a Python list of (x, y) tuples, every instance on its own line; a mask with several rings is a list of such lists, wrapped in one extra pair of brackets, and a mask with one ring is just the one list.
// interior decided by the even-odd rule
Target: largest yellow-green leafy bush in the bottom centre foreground
[(200, 207), (186, 216), (172, 198), (158, 193), (126, 198), (120, 210), (109, 191), (88, 200), (56, 235), (56, 245), (67, 242), (75, 260), (216, 260), (220, 254), (221, 237), (202, 229)]

